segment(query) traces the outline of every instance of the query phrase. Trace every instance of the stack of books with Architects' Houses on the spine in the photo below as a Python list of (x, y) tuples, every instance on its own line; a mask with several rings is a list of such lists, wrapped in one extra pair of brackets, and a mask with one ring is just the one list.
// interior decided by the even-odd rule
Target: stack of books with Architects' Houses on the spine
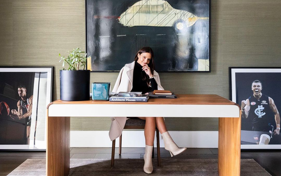
[(147, 102), (149, 98), (149, 95), (141, 92), (111, 92), (110, 95), (110, 102)]

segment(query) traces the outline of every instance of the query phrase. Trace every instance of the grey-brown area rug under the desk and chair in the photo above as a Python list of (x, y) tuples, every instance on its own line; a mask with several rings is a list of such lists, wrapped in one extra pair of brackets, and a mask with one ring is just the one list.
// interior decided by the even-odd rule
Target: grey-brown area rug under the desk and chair
[[(71, 159), (69, 176), (141, 176), (143, 159)], [(45, 176), (45, 159), (27, 159), (8, 176)], [(217, 159), (161, 159), (161, 167), (153, 159), (154, 176), (218, 176)], [(270, 176), (253, 159), (241, 159), (241, 176)]]

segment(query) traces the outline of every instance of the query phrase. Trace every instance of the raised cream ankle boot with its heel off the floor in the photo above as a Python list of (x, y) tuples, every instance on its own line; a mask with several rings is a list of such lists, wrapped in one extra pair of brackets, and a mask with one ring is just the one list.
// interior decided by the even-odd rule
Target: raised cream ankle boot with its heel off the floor
[(164, 147), (170, 151), (172, 157), (186, 150), (186, 147), (180, 148), (175, 144), (168, 131), (161, 135), (164, 140)]

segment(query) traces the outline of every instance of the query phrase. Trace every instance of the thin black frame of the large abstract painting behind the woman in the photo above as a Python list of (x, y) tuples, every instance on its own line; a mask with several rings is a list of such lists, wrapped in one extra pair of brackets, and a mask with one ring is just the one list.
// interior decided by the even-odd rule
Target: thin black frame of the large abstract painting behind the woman
[[(89, 0), (88, 0), (89, 1)], [(165, 0), (166, 1), (166, 0)], [(191, 0), (190, 0), (191, 1)], [(208, 46), (208, 49), (209, 49), (209, 71), (157, 71), (157, 72), (193, 72), (193, 73), (196, 73), (196, 72), (202, 72), (202, 73), (209, 73), (211, 72), (211, 1), (209, 1), (209, 46)], [(136, 1), (137, 2), (137, 1)], [(87, 0), (85, 0), (85, 51), (87, 53), (87, 56), (89, 57), (88, 55), (88, 52), (87, 52), (87, 48), (88, 48), (88, 42), (87, 42)], [(88, 65), (88, 60), (86, 61), (86, 65)], [(119, 70), (120, 71), (120, 70)], [(92, 71), (91, 72), (119, 72), (119, 71)]]

